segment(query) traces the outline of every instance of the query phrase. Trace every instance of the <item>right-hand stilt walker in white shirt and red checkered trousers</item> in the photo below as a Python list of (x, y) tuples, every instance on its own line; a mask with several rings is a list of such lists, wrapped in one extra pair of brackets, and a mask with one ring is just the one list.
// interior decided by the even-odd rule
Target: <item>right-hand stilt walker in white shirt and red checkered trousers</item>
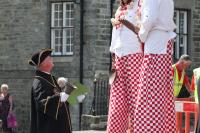
[(144, 59), (134, 114), (134, 133), (175, 133), (172, 88), (173, 0), (141, 0), (139, 38)]

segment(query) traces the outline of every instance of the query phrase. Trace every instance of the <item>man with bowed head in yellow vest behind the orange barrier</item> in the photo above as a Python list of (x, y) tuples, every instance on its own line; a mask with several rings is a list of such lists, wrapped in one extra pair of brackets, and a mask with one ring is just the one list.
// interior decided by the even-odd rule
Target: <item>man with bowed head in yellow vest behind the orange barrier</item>
[(185, 85), (187, 91), (192, 95), (192, 92), (190, 90), (190, 81), (185, 73), (185, 71), (189, 68), (192, 61), (190, 59), (189, 55), (182, 55), (179, 59), (179, 61), (172, 65), (172, 75), (173, 75), (173, 88), (174, 88), (174, 96), (176, 98), (182, 97), (180, 94), (181, 88), (183, 85)]

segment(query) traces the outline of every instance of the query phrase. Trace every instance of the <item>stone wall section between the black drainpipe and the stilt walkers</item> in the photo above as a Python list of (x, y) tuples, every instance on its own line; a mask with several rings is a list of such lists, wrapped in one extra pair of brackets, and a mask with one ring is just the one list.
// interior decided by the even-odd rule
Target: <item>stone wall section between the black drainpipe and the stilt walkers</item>
[(110, 1), (85, 0), (84, 13), (84, 82), (91, 93), (84, 104), (88, 114), (93, 97), (93, 79), (98, 71), (108, 72), (110, 64)]

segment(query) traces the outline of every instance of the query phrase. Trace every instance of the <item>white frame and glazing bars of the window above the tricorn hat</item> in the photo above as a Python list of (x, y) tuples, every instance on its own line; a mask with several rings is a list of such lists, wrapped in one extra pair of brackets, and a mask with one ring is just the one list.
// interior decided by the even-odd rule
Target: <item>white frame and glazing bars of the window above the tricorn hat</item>
[[(54, 14), (55, 12), (57, 12), (57, 10), (55, 10), (55, 4), (60, 4), (61, 6), (61, 14), (62, 16), (60, 18), (62, 18), (62, 25), (59, 25), (59, 21), (58, 21), (58, 25), (55, 25), (55, 17)], [(70, 5), (70, 10), (68, 12), (70, 12), (70, 18), (66, 17), (66, 7), (67, 5)], [(54, 51), (52, 52), (53, 56), (69, 56), (69, 55), (73, 55), (74, 51), (74, 38), (75, 38), (75, 26), (74, 26), (74, 20), (75, 20), (75, 2), (74, 1), (60, 1), (60, 2), (51, 2), (50, 3), (50, 46), (52, 49), (54, 49)], [(59, 8), (58, 8), (59, 9)], [(58, 10), (59, 11), (59, 10)], [(71, 22), (71, 25), (64, 25), (66, 24), (67, 19), (72, 20), (73, 22)], [(59, 13), (58, 13), (58, 20), (59, 20)], [(70, 22), (70, 21), (69, 21)], [(61, 34), (61, 40), (60, 41), (60, 47), (62, 48), (60, 51), (56, 52), (56, 43), (55, 43), (55, 32), (56, 30), (60, 30)], [(67, 32), (70, 32), (70, 35), (67, 36)], [(70, 43), (67, 44), (67, 38), (70, 40)], [(59, 42), (58, 41), (58, 42)], [(64, 43), (65, 42), (65, 43)], [(58, 43), (59, 44), (59, 43)], [(59, 47), (59, 45), (57, 45)], [(69, 51), (67, 51), (67, 47), (69, 47)]]

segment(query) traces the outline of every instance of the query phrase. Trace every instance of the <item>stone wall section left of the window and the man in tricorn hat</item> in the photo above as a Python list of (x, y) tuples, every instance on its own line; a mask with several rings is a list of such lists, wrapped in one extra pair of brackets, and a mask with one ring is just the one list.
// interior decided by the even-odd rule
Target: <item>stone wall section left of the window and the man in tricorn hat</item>
[(0, 84), (7, 83), (15, 103), (20, 133), (29, 133), (30, 89), (33, 68), (27, 60), (33, 51), (48, 46), (45, 2), (0, 1)]

